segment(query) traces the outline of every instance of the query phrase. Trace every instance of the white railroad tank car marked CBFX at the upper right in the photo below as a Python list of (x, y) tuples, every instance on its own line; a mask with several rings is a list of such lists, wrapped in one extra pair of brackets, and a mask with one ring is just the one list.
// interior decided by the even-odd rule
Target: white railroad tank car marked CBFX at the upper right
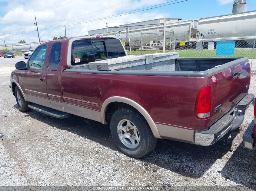
[(254, 39), (255, 23), (256, 11), (201, 18), (198, 21), (197, 39)]

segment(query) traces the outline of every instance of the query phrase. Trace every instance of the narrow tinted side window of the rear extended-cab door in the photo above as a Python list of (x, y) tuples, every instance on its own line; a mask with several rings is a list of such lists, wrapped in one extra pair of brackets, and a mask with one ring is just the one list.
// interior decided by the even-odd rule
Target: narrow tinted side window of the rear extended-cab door
[(50, 54), (49, 69), (58, 70), (62, 43), (54, 43)]

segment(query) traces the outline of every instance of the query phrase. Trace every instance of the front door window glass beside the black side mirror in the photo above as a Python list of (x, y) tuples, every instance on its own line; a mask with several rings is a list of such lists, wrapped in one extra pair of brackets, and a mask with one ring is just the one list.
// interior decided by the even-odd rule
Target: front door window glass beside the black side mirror
[(29, 69), (43, 69), (45, 66), (45, 54), (47, 45), (38, 47), (29, 59)]

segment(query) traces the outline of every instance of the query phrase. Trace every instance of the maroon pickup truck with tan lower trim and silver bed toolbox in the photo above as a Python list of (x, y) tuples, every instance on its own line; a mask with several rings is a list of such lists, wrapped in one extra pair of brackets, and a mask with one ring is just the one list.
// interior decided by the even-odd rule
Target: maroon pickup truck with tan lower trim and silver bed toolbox
[(136, 158), (151, 152), (158, 138), (214, 144), (238, 129), (254, 98), (247, 58), (178, 58), (159, 70), (88, 66), (122, 56), (127, 53), (116, 37), (50, 41), (27, 63), (16, 63), (10, 88), (22, 112), (110, 124), (118, 148)]

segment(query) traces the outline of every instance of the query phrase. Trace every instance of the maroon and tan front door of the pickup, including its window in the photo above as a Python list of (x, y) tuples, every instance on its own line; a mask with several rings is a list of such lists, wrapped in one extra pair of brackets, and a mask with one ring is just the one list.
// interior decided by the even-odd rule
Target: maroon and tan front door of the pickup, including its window
[(28, 101), (50, 107), (47, 95), (47, 45), (39, 46), (27, 62), (28, 70), (22, 74), (24, 93)]

